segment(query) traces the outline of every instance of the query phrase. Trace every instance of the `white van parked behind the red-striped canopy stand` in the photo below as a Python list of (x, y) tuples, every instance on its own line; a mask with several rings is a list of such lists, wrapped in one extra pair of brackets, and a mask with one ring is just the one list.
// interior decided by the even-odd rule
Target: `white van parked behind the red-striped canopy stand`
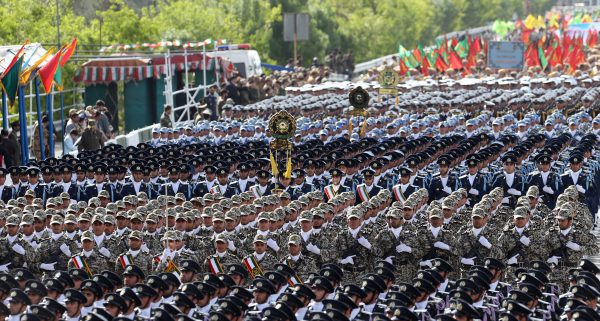
[(209, 52), (208, 55), (231, 61), (244, 78), (260, 76), (263, 73), (258, 52), (252, 50), (249, 44), (217, 46), (217, 51)]

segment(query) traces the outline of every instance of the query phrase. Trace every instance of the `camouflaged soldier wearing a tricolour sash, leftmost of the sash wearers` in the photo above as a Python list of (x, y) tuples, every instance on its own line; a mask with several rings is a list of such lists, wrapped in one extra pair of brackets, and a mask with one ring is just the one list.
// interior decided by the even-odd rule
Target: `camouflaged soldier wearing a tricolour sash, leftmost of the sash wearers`
[[(84, 265), (78, 266), (79, 263), (83, 263)], [(68, 268), (69, 270), (83, 269), (89, 274), (89, 277), (99, 274), (102, 271), (112, 271), (112, 267), (108, 265), (106, 257), (96, 249), (94, 235), (90, 231), (85, 231), (81, 234), (81, 252), (75, 253), (70, 258)]]

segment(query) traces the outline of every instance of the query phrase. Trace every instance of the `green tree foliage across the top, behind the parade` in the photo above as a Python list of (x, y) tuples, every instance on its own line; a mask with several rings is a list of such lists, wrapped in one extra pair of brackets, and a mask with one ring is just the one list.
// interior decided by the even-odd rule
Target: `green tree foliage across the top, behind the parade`
[[(265, 62), (285, 64), (293, 44), (283, 41), (283, 13), (310, 15), (310, 41), (299, 43), (308, 63), (327, 51), (353, 50), (360, 62), (396, 51), (398, 44), (414, 48), (429, 44), (442, 33), (479, 27), (495, 19), (543, 13), (550, 0), (170, 0), (148, 7), (130, 6), (132, 0), (98, 0), (92, 16), (78, 14), (84, 0), (59, 0), (61, 40), (79, 39), (86, 45), (130, 44), (160, 40), (202, 41), (227, 39), (251, 43)], [(54, 44), (55, 0), (0, 0), (0, 41)], [(97, 47), (95, 49), (98, 49)], [(73, 75), (66, 71), (65, 78)], [(68, 84), (67, 84), (68, 85)]]

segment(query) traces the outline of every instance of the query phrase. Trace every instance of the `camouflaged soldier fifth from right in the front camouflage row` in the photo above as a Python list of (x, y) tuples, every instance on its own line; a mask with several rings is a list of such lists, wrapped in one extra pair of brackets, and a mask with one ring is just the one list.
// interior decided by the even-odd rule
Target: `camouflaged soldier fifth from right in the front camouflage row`
[(406, 225), (399, 208), (390, 209), (386, 218), (388, 228), (375, 237), (373, 254), (396, 267), (396, 281), (408, 282), (417, 273), (419, 261), (429, 252), (430, 244), (423, 233), (417, 234), (413, 225)]

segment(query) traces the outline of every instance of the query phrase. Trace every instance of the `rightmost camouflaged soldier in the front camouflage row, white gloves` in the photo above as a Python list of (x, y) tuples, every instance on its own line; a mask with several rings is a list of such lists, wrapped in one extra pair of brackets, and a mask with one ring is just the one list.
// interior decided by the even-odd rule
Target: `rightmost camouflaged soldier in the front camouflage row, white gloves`
[(544, 236), (544, 248), (549, 251), (547, 262), (555, 265), (552, 279), (566, 289), (569, 284), (569, 269), (577, 267), (584, 255), (598, 253), (598, 245), (593, 234), (573, 227), (570, 208), (560, 208), (556, 219), (557, 225), (550, 228)]

